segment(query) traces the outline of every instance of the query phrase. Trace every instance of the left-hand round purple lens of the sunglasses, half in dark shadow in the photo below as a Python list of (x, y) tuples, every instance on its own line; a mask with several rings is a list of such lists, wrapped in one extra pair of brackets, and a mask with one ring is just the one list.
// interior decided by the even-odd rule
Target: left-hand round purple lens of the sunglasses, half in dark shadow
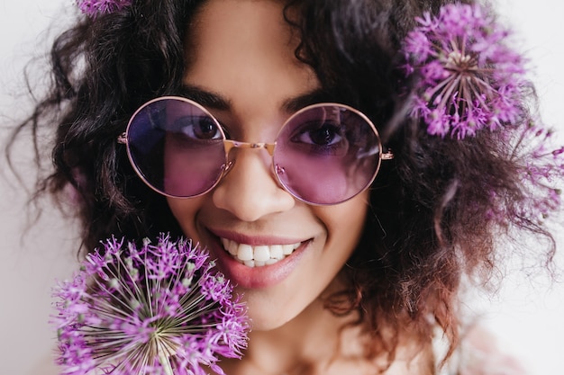
[(136, 112), (127, 130), (132, 165), (151, 188), (194, 197), (219, 181), (225, 164), (223, 130), (200, 105), (159, 98)]

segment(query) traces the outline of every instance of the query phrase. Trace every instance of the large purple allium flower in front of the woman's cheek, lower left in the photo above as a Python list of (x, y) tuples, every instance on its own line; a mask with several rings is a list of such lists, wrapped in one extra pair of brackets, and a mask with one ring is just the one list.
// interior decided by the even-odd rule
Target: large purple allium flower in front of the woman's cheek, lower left
[(107, 240), (54, 291), (63, 374), (223, 374), (247, 345), (246, 308), (198, 246)]

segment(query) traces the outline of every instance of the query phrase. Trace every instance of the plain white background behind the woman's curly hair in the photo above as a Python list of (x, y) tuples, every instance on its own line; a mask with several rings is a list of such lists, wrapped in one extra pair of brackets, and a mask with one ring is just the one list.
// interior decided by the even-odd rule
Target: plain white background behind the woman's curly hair
[[(72, 0), (0, 3), (2, 138), (5, 127), (22, 116), (29, 103), (21, 99), (23, 65), (47, 49), (47, 41), (67, 22), (72, 4)], [(532, 59), (544, 120), (564, 132), (560, 116), (564, 107), (564, 5), (552, 0), (498, 0), (496, 5), (502, 21), (514, 28), (522, 49)], [(50, 363), (55, 339), (47, 323), (50, 288), (55, 279), (68, 277), (76, 267), (77, 230), (46, 203), (38, 225), (26, 232), (26, 195), (6, 169), (2, 161), (0, 375), (54, 374)], [(564, 241), (559, 242), (557, 264), (562, 268)], [(487, 325), (499, 343), (519, 357), (531, 375), (563, 374), (564, 285), (557, 281), (548, 286), (546, 279), (527, 279), (522, 273), (510, 273), (504, 285), (473, 309), (485, 308)]]

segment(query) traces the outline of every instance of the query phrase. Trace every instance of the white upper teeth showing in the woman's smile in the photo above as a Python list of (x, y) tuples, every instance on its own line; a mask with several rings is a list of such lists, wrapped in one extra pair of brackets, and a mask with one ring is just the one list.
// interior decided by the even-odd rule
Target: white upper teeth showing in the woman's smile
[(248, 267), (262, 267), (280, 262), (288, 255), (294, 253), (296, 248), (302, 246), (301, 242), (289, 245), (260, 245), (250, 246), (239, 244), (231, 239), (220, 238), (223, 249), (240, 263)]

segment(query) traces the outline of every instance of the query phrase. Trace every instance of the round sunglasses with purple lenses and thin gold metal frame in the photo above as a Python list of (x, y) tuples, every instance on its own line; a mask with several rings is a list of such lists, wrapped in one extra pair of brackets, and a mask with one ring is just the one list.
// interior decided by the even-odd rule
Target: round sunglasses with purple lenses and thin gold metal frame
[(382, 160), (378, 130), (343, 104), (317, 103), (294, 113), (273, 143), (232, 140), (214, 116), (189, 99), (165, 96), (145, 103), (118, 138), (133, 169), (160, 194), (192, 198), (214, 188), (232, 170), (233, 148), (264, 148), (277, 183), (296, 199), (337, 204), (363, 192)]

